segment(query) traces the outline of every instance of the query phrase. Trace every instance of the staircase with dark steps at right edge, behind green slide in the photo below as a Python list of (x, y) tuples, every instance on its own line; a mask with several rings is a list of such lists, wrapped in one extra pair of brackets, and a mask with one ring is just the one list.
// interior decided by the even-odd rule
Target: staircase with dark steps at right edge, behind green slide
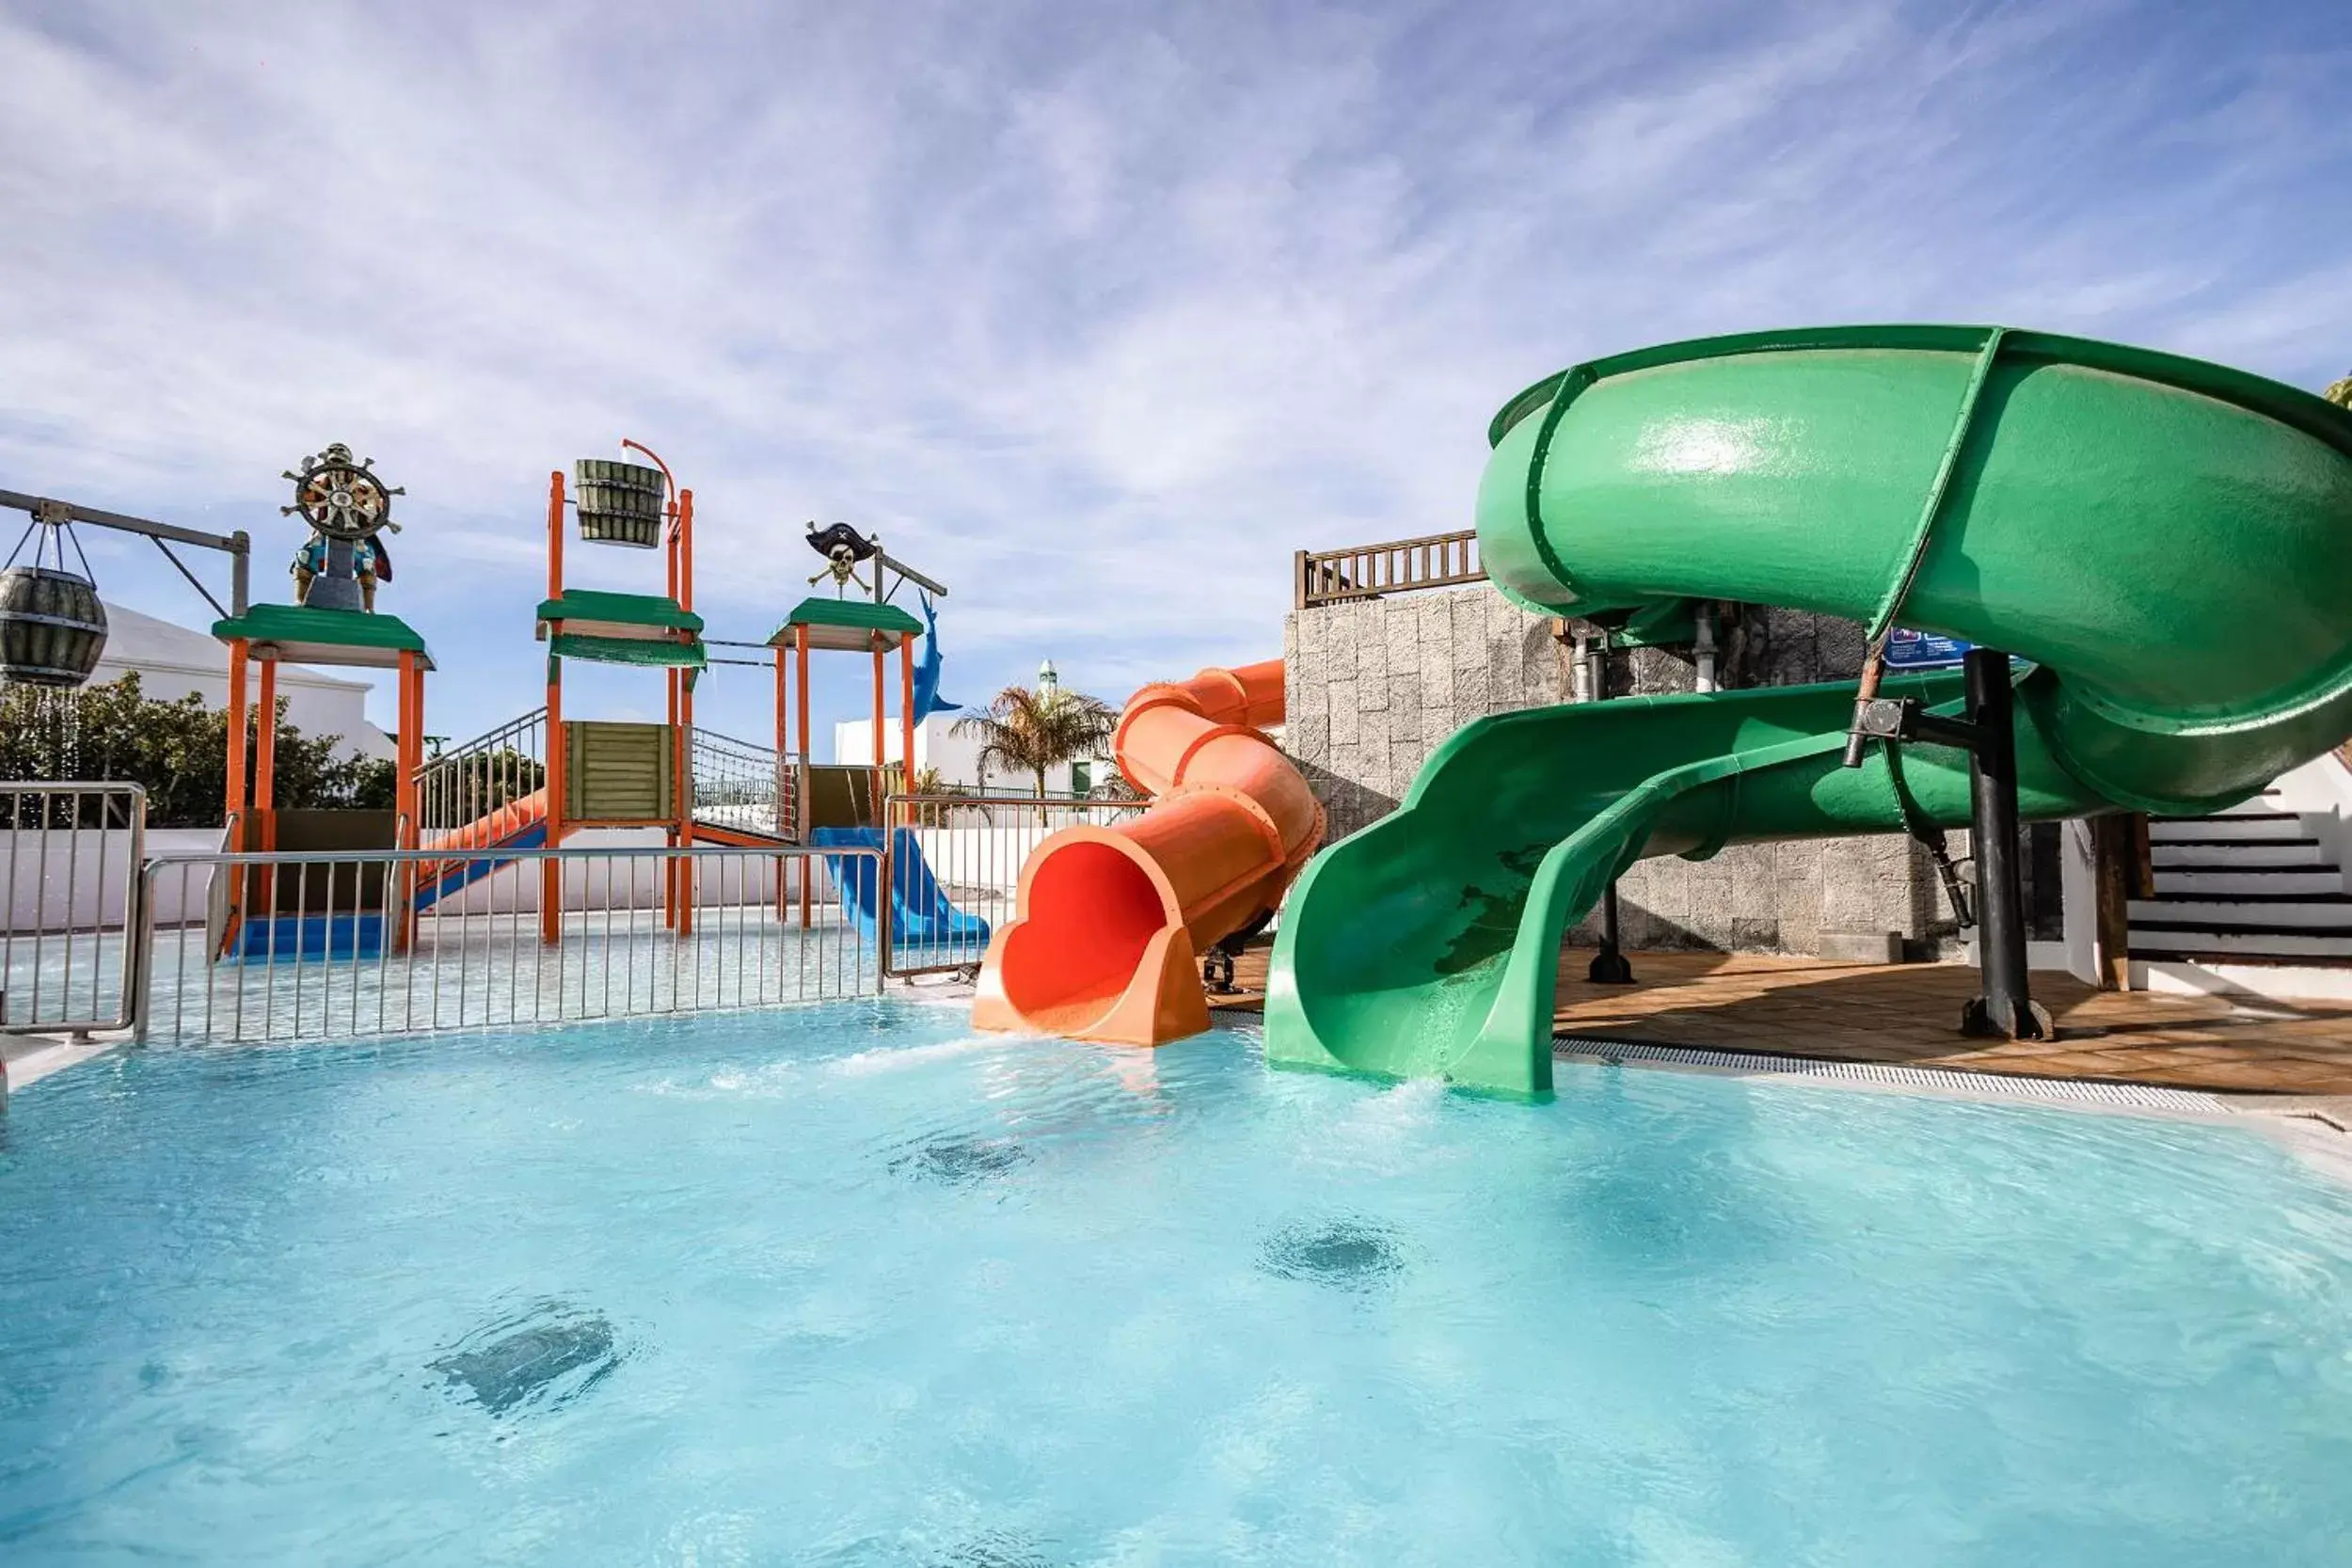
[(2272, 973), (2260, 983), (2272, 994), (2352, 987), (2352, 884), (2331, 832), (2336, 813), (2314, 804), (2291, 773), (2218, 816), (2152, 820), (2157, 896), (2131, 900), (2131, 957), (2223, 973), (2338, 971), (2300, 987)]

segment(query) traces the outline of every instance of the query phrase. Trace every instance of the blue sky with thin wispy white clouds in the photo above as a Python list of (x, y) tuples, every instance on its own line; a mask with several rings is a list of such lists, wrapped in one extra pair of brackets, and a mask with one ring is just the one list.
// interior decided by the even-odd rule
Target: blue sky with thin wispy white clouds
[[(0, 489), (249, 529), (287, 597), (280, 470), (374, 456), (452, 738), (541, 701), (546, 477), (621, 437), (696, 491), (713, 635), (849, 522), (950, 588), (950, 698), (1054, 658), (1115, 703), (1275, 656), (1294, 550), (1468, 527), (1491, 414), (1597, 355), (1955, 320), (2352, 369), (2347, 0), (0, 0)], [(701, 691), (769, 733), (762, 672)]]

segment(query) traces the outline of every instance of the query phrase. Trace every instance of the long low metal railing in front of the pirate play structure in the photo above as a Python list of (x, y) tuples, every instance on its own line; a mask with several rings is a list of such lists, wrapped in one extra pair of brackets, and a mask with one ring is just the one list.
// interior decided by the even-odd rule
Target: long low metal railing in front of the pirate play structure
[(851, 896), (880, 863), (790, 846), (158, 856), (132, 1025), (296, 1041), (873, 997), (880, 950)]

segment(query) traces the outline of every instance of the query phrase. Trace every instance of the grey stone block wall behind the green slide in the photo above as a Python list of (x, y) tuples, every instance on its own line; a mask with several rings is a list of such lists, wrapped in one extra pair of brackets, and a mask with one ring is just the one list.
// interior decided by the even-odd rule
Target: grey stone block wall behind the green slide
[[(1745, 607), (1722, 632), (1726, 686), (1853, 679), (1863, 628)], [(1611, 696), (1691, 691), (1684, 649), (1611, 656)], [(1489, 712), (1569, 701), (1569, 644), (1491, 588), (1298, 611), (1284, 628), (1287, 745), (1331, 837), (1395, 811), (1439, 741)], [(1962, 856), (1964, 835), (1952, 835)], [(1825, 931), (1896, 931), (1912, 957), (1957, 950), (1926, 851), (1903, 835), (1733, 844), (1712, 860), (1653, 858), (1618, 884), (1628, 947), (1818, 952)], [(1597, 940), (1592, 919), (1576, 940)]]

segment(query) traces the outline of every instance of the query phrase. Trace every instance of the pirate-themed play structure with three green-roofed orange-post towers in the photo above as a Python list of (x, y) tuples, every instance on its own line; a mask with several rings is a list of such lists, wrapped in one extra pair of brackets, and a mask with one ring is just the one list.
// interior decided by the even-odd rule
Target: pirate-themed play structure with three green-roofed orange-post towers
[[(574, 468), (576, 494), (564, 475), (548, 477), (548, 597), (539, 604), (539, 637), (548, 644), (548, 701), (449, 755), (423, 757), (423, 686), (433, 656), (405, 621), (362, 609), (355, 581), (362, 559), (355, 545), (376, 538), (390, 522), (390, 496), (367, 463), (348, 449), (329, 447), (308, 458), (296, 480), (299, 510), (313, 529), (313, 550), (296, 564), (303, 604), (240, 607), (214, 625), (228, 644), (230, 736), (247, 731), (249, 665), (261, 665), (259, 701), (252, 705), (252, 764), (245, 745), (228, 750), (226, 851), (247, 853), (350, 853), (414, 851), (405, 863), (346, 867), (341, 875), (280, 875), (254, 865), (226, 891), (216, 950), (233, 959), (275, 961), (285, 957), (372, 957), (402, 950), (416, 919), (468, 886), (515, 865), (524, 851), (555, 849), (581, 830), (656, 830), (670, 849), (691, 844), (762, 849), (800, 844), (809, 835), (880, 849), (884, 799), (882, 755), (873, 769), (809, 766), (807, 703), (811, 649), (858, 649), (875, 668), (875, 733), (884, 719), (884, 658), (901, 654), (901, 689), (910, 689), (913, 637), (922, 635), (908, 611), (887, 602), (884, 571), (924, 590), (946, 588), (894, 562), (875, 543), (849, 534), (856, 550), (828, 559), (837, 581), (854, 581), (844, 559), (875, 562), (873, 602), (809, 597), (764, 642), (724, 642), (703, 635), (694, 611), (694, 491), (680, 489), (659, 456), (637, 442), (626, 449), (652, 465), (583, 458)], [(576, 515), (583, 543), (663, 550), (663, 592), (607, 592), (564, 583), (564, 534)], [(325, 541), (325, 550), (315, 548)], [(814, 541), (811, 541), (814, 543)], [(301, 567), (310, 571), (303, 574)], [(386, 574), (388, 576), (388, 574)], [(821, 571), (818, 578), (826, 574)], [(818, 578), (811, 578), (818, 581)], [(240, 578), (242, 581), (242, 578)], [(764, 658), (727, 658), (713, 646), (757, 649)], [(397, 785), (393, 811), (280, 811), (273, 788), (275, 672), (280, 661), (390, 668), (397, 672)], [(668, 715), (661, 724), (567, 719), (564, 665), (576, 661), (649, 668), (663, 672)], [(776, 745), (757, 748), (694, 726), (694, 691), (713, 663), (774, 665)], [(800, 750), (788, 750), (788, 675), (797, 668)], [(931, 675), (936, 684), (936, 668)], [(903, 703), (901, 729), (910, 729)], [(553, 743), (548, 743), (553, 738)], [(894, 886), (927, 886), (929, 896), (906, 905), (894, 940), (950, 943), (971, 950), (985, 940), (985, 924), (946, 905), (936, 879), (920, 865), (908, 839)], [(564, 929), (562, 865), (536, 858), (539, 926), (543, 943)], [(779, 860), (779, 914), (786, 900)], [(863, 889), (851, 910), (866, 940), (882, 940), (889, 917), (877, 910), (875, 867), (863, 858), (835, 856), (830, 870), (847, 889)], [(661, 919), (677, 936), (691, 936), (699, 905), (696, 867), (689, 856), (661, 865)], [(809, 926), (814, 891), (797, 879), (800, 924)], [(901, 900), (903, 903), (903, 900)]]

